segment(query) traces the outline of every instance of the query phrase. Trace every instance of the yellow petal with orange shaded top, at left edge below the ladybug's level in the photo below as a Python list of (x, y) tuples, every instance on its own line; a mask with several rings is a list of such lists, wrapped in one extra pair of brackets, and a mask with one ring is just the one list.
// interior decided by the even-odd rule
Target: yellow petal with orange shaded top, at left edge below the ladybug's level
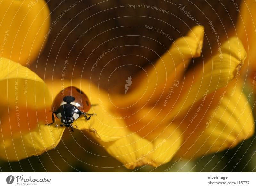
[[(8, 109), (8, 108), (5, 108)], [(64, 128), (45, 125), (45, 109), (12, 108), (1, 113), (0, 157), (21, 160), (57, 146)]]

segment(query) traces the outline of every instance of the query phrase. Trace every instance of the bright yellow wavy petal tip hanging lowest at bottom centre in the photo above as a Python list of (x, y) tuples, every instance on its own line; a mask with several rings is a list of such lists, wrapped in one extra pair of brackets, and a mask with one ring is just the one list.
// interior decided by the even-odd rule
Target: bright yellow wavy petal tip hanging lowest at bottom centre
[(169, 162), (182, 141), (180, 132), (176, 128), (163, 127), (157, 127), (146, 137), (127, 131), (127, 136), (121, 139), (100, 142), (100, 144), (128, 169), (142, 165), (156, 167)]

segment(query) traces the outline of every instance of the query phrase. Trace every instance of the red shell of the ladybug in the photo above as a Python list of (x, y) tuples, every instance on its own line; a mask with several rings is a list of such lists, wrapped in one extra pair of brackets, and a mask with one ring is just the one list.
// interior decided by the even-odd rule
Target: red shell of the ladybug
[(79, 110), (82, 112), (88, 112), (91, 108), (91, 103), (86, 96), (86, 94), (74, 86), (66, 87), (65, 89), (61, 90), (55, 97), (53, 101), (53, 111), (56, 111), (61, 103), (63, 102), (63, 98), (65, 96), (72, 96), (75, 98), (75, 101), (72, 102), (73, 105), (75, 105)]

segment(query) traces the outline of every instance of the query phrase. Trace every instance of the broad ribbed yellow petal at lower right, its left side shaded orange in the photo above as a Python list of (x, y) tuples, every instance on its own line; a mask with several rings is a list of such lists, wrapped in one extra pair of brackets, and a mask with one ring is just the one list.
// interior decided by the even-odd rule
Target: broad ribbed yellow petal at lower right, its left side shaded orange
[[(177, 157), (191, 158), (219, 152), (251, 137), (254, 119), (249, 100), (239, 86), (231, 84), (227, 90), (208, 95), (203, 103), (194, 104), (184, 120), (183, 117), (176, 120), (180, 121), (184, 138)], [(196, 111), (198, 108), (199, 112)]]

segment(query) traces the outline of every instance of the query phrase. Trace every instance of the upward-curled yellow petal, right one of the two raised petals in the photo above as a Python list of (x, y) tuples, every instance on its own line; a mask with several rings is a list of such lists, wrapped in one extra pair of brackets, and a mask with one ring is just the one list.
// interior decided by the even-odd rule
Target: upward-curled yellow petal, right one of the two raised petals
[[(199, 67), (199, 71), (195, 75), (193, 73), (193, 75), (185, 78), (186, 85), (183, 86), (185, 91), (180, 92), (182, 97), (177, 100), (175, 110), (172, 110), (172, 117), (176, 116), (178, 112), (182, 113), (188, 109), (192, 104), (202, 99), (205, 94), (210, 94), (227, 86), (228, 82), (236, 77), (246, 58), (246, 52), (241, 41), (232, 37), (221, 46), (220, 50), (218, 54), (206, 62), (204, 67)], [(195, 78), (193, 78), (194, 76)], [(193, 81), (192, 84), (190, 83), (191, 80)], [(172, 109), (172, 106), (168, 105), (167, 109)]]

